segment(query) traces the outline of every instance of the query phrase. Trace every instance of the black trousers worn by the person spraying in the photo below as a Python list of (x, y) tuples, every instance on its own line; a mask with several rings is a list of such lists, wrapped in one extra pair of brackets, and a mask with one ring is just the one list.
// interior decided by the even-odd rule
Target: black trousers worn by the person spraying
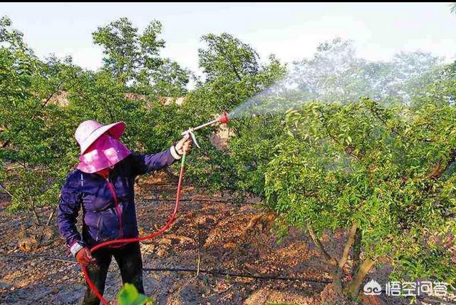
[[(133, 284), (141, 294), (144, 294), (144, 287), (142, 286), (142, 258), (140, 244), (138, 242), (126, 244), (121, 248), (101, 248), (93, 252), (92, 256), (95, 258), (96, 263), (88, 264), (87, 271), (93, 284), (100, 291), (100, 294), (103, 295), (103, 291), (105, 291), (106, 276), (108, 275), (108, 268), (113, 257), (119, 265), (123, 284)], [(83, 305), (95, 304), (100, 304), (100, 300), (87, 287)]]

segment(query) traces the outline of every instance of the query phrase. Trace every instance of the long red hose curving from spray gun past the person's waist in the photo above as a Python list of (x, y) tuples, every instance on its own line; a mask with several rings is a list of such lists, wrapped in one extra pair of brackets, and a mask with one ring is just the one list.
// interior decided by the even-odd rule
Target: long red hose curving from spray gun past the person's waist
[[(176, 216), (177, 216), (177, 209), (179, 208), (179, 200), (180, 200), (180, 190), (182, 188), (182, 177), (184, 177), (184, 163), (185, 163), (185, 155), (182, 155), (182, 162), (180, 163), (180, 173), (179, 173), (179, 182), (177, 183), (177, 194), (176, 194), (176, 204), (174, 206), (174, 211), (171, 214), (170, 219), (166, 222), (166, 224), (161, 227), (157, 232), (153, 232), (152, 234), (146, 235), (144, 237), (137, 237), (137, 238), (126, 238), (126, 239), (115, 239), (115, 240), (110, 240), (108, 242), (102, 242), (101, 244), (97, 244), (95, 247), (90, 249), (90, 253), (95, 252), (96, 250), (109, 246), (111, 244), (129, 244), (130, 242), (142, 242), (143, 240), (146, 239), (152, 239), (154, 237), (157, 237), (160, 234), (163, 234), (167, 229), (170, 228), (172, 222), (175, 221)], [(101, 303), (103, 305), (109, 305), (109, 302), (106, 301), (105, 298), (100, 294), (100, 291), (98, 291), (97, 287), (95, 287), (95, 284), (93, 284), (93, 281), (90, 279), (88, 276), (88, 272), (86, 267), (83, 268), (83, 273), (84, 276), (86, 277), (87, 284), (90, 288), (91, 291), (97, 296), (98, 299), (100, 299)]]

